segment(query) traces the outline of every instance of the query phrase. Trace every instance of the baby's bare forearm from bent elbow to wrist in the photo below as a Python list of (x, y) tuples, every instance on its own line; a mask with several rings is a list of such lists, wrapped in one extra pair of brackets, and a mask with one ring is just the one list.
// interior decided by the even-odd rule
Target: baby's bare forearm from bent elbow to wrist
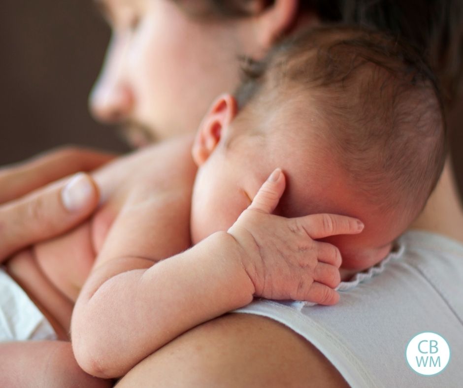
[(99, 377), (122, 376), (181, 333), (250, 303), (254, 286), (239, 255), (233, 237), (219, 232), (83, 292), (72, 321), (79, 364)]

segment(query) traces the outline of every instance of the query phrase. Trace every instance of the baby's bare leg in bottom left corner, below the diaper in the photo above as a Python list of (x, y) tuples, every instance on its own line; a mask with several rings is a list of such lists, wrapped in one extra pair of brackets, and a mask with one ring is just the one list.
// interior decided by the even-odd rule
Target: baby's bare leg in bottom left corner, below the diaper
[(70, 342), (0, 343), (0, 387), (112, 387), (88, 375), (74, 359)]

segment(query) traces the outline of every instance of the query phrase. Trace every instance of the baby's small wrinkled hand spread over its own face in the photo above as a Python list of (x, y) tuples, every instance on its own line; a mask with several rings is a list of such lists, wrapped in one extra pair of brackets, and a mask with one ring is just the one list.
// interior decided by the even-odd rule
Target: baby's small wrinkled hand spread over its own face
[(334, 214), (299, 218), (270, 214), (284, 190), (284, 174), (276, 169), (228, 230), (242, 249), (242, 265), (254, 284), (254, 295), (335, 304), (341, 255), (334, 245), (315, 239), (357, 234), (364, 225)]

